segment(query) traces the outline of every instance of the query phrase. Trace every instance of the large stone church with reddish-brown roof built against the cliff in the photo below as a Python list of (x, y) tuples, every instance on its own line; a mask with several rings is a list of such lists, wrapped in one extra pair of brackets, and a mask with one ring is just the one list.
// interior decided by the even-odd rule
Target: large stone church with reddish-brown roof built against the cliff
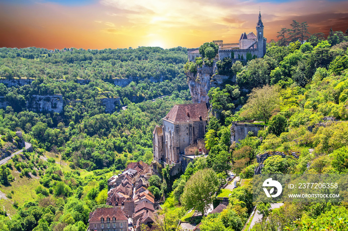
[(206, 103), (175, 105), (153, 131), (154, 159), (169, 165), (180, 163), (180, 156), (207, 154), (204, 134), (208, 120)]

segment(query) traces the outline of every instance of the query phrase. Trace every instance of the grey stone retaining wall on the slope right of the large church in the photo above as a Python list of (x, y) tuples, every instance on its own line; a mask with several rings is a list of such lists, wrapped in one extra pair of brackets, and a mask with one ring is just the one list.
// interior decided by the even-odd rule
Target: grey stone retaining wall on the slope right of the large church
[(245, 139), (249, 131), (252, 131), (254, 132), (254, 135), (257, 135), (259, 130), (264, 128), (264, 125), (253, 124), (252, 122), (254, 122), (254, 120), (232, 122), (231, 144), (233, 142), (239, 143), (239, 140)]

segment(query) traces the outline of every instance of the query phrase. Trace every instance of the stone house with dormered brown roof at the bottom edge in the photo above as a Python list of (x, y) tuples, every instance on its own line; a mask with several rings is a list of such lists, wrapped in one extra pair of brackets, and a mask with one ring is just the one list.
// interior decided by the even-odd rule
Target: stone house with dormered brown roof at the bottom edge
[(128, 217), (118, 207), (98, 208), (89, 213), (90, 231), (127, 231)]

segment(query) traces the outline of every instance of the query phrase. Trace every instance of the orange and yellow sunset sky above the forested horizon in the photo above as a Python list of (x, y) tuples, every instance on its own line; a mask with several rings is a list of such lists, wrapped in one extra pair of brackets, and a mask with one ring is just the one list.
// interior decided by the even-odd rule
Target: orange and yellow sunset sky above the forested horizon
[(348, 29), (348, 0), (0, 0), (0, 47), (238, 43), (242, 33), (256, 34), (260, 9), (267, 42), (292, 20), (307, 21), (311, 33)]

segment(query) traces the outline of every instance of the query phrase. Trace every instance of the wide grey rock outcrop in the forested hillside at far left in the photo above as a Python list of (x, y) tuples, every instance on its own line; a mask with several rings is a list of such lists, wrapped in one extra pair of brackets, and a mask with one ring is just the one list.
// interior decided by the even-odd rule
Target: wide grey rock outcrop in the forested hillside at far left
[(61, 94), (57, 95), (32, 95), (31, 99), (27, 101), (26, 108), (34, 112), (63, 112), (63, 97)]

